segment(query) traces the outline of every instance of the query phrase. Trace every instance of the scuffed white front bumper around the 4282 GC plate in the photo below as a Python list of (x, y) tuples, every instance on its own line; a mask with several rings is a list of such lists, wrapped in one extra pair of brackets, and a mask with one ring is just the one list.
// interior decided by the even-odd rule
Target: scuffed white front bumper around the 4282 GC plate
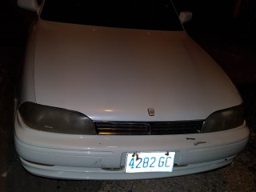
[[(244, 125), (207, 134), (72, 135), (33, 130), (15, 118), (15, 147), (32, 174), (66, 179), (142, 179), (194, 174), (226, 166), (250, 137)], [(126, 174), (126, 154), (174, 151), (171, 173)]]

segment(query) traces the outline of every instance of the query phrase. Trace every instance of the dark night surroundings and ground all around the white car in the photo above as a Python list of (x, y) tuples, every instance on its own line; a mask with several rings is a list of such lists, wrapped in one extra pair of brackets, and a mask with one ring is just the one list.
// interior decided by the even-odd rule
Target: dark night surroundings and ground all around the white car
[[(22, 71), (27, 32), (36, 16), (0, 1), (0, 191), (256, 191), (256, 1), (174, 0), (178, 12), (190, 10), (185, 27), (226, 71), (242, 94), (250, 143), (230, 166), (205, 174), (150, 182), (58, 181), (22, 169), (13, 142), (13, 99)], [(172, 186), (173, 190), (162, 187)], [(161, 187), (160, 187), (161, 186)], [(148, 187), (145, 190), (145, 187)], [(160, 188), (159, 188), (160, 187)], [(175, 190), (176, 189), (176, 190)]]

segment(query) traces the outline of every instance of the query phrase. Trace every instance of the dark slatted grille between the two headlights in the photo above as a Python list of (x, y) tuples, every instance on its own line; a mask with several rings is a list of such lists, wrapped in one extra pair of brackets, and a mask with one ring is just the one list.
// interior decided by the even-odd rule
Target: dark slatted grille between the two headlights
[(104, 135), (159, 135), (197, 134), (204, 121), (182, 122), (94, 122), (98, 134)]

